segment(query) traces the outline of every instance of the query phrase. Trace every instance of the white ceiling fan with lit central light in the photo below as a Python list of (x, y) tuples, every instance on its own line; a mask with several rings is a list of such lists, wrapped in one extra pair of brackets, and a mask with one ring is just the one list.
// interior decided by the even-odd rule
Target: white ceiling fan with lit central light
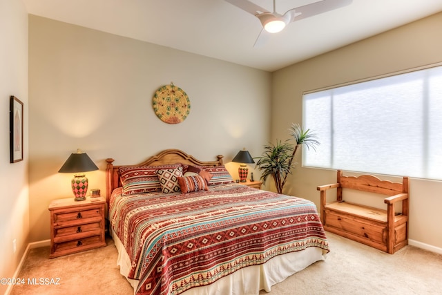
[(273, 12), (269, 12), (265, 8), (262, 8), (249, 0), (226, 0), (227, 2), (241, 8), (242, 10), (251, 13), (256, 16), (261, 24), (262, 30), (254, 46), (260, 46), (267, 40), (267, 33), (276, 33), (282, 31), (285, 26), (294, 21), (300, 19), (306, 19), (320, 13), (334, 10), (347, 6), (352, 3), (353, 0), (322, 0), (314, 3), (292, 8), (287, 10), (284, 15), (280, 15), (276, 12), (276, 0), (273, 0)]

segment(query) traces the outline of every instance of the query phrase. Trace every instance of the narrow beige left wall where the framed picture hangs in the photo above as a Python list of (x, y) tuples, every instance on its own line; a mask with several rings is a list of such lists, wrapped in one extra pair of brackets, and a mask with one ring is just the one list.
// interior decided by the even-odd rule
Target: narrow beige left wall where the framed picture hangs
[[(28, 14), (21, 1), (0, 1), (0, 278), (12, 278), (28, 245)], [(9, 97), (24, 104), (24, 160), (10, 164)], [(12, 240), (17, 240), (14, 253)], [(0, 294), (7, 285), (0, 285)]]

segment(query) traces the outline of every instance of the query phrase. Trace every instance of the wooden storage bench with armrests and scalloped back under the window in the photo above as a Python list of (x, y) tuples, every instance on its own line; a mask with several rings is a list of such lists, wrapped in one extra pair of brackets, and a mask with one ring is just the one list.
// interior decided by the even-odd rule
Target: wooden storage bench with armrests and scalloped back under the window
[[(327, 203), (327, 190), (335, 188), (336, 201)], [(390, 254), (408, 245), (407, 177), (398, 183), (380, 180), (372, 175), (344, 176), (338, 170), (336, 183), (322, 185), (317, 189), (320, 191), (320, 220), (326, 231)], [(346, 193), (347, 189), (352, 189), (388, 196), (384, 198), (387, 209), (346, 202), (343, 200), (343, 189), (346, 189)], [(402, 202), (401, 212), (395, 212), (396, 202)]]

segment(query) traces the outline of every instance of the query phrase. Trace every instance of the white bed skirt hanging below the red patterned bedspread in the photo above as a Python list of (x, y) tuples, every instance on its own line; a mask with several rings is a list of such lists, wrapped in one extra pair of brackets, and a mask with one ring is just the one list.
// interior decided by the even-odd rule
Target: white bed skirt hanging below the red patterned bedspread
[[(119, 272), (131, 283), (135, 294), (139, 280), (127, 277), (131, 269), (129, 256), (113, 229), (111, 229), (111, 235), (118, 250)], [(211, 285), (189, 289), (182, 295), (256, 295), (262, 289), (270, 292), (271, 286), (319, 260), (325, 260), (323, 249), (309, 247), (303, 251), (273, 257), (263, 265), (251, 265), (238, 269), (233, 274), (224, 276)]]

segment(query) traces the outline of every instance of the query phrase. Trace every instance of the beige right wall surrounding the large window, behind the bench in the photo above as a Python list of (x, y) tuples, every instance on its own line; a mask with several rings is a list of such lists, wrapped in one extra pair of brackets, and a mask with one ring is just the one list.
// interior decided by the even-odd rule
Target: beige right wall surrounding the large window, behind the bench
[[(442, 13), (294, 64), (273, 73), (271, 138), (287, 138), (291, 122), (302, 122), (302, 92), (442, 61)], [(308, 128), (308, 126), (306, 126)], [(376, 144), (374, 143), (374, 152)], [(300, 155), (298, 155), (300, 162)], [(285, 193), (319, 206), (316, 186), (336, 180), (335, 171), (300, 165)], [(393, 178), (392, 180), (398, 180)], [(410, 180), (410, 239), (442, 251), (442, 182)]]

